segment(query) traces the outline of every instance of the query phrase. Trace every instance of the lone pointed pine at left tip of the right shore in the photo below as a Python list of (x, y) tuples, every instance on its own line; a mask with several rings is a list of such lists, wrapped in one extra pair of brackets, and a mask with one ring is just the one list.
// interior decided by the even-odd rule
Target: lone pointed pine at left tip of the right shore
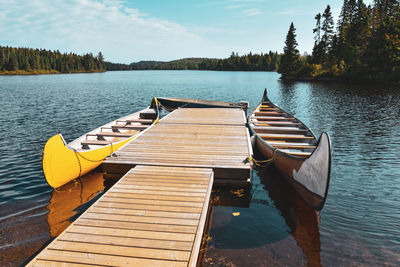
[(299, 50), (297, 50), (296, 28), (293, 22), (290, 24), (289, 31), (286, 35), (285, 47), (279, 65), (278, 72), (283, 77), (295, 75), (295, 71), (299, 65)]

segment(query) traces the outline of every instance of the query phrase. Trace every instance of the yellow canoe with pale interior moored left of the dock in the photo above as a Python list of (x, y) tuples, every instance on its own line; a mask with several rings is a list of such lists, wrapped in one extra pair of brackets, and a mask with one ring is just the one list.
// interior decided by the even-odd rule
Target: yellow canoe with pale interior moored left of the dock
[(57, 188), (89, 173), (158, 120), (158, 103), (154, 99), (147, 109), (107, 123), (69, 144), (61, 134), (54, 135), (43, 149), (42, 167), (47, 183)]

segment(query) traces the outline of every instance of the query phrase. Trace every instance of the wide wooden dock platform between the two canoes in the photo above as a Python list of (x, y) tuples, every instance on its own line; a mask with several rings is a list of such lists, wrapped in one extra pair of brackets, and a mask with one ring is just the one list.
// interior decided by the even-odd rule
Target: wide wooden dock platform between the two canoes
[(234, 108), (177, 109), (103, 163), (109, 177), (136, 165), (212, 168), (215, 183), (250, 182), (252, 155), (246, 116)]

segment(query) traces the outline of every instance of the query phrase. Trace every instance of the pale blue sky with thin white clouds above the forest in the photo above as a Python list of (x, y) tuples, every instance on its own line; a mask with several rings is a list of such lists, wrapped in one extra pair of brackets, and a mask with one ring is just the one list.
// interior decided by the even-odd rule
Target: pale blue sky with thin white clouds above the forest
[[(364, 1), (367, 4), (372, 0)], [(0, 0), (0, 46), (131, 63), (282, 52), (291, 22), (310, 53), (314, 17), (343, 0)]]

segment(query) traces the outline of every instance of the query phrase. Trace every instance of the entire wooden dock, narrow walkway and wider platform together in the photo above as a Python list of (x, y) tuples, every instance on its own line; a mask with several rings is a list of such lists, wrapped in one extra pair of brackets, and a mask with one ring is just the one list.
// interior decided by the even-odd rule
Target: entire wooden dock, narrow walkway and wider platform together
[(122, 178), (29, 266), (196, 266), (214, 180), (251, 178), (239, 108), (177, 109), (115, 154)]

